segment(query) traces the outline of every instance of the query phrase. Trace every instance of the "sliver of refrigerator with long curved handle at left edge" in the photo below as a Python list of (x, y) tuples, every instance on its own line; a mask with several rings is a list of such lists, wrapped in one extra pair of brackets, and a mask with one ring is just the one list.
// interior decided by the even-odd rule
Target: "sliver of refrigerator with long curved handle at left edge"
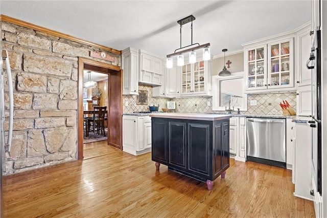
[[(1, 26), (0, 26), (1, 27)], [(3, 174), (6, 172), (5, 165), (5, 152), (10, 151), (11, 139), (12, 139), (12, 123), (13, 123), (13, 92), (12, 92), (12, 79), (11, 79), (11, 69), (9, 63), (9, 56), (7, 51), (3, 51), (0, 45), (0, 218), (3, 217)], [(8, 137), (5, 137), (5, 71), (4, 64), (6, 67), (7, 84), (8, 84), (8, 96), (9, 96), (9, 129)]]

